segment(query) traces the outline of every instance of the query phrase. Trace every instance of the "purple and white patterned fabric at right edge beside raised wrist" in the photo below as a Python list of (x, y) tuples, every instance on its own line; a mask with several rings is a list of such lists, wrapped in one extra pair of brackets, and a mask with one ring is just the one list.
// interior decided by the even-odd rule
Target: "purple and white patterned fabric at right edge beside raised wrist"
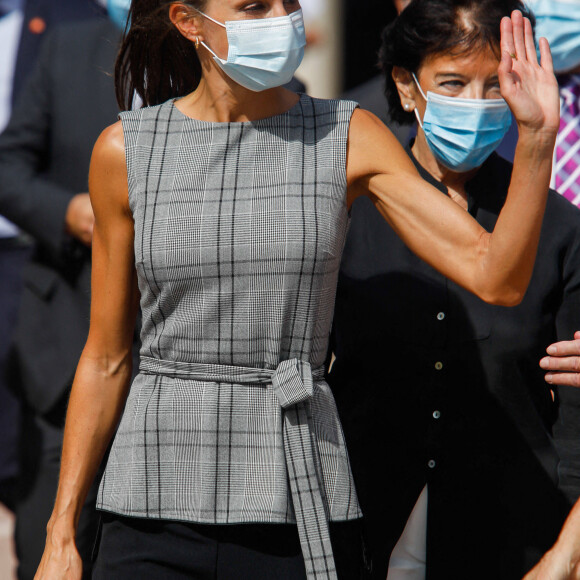
[(580, 76), (560, 80), (560, 101), (560, 130), (551, 185), (580, 206)]

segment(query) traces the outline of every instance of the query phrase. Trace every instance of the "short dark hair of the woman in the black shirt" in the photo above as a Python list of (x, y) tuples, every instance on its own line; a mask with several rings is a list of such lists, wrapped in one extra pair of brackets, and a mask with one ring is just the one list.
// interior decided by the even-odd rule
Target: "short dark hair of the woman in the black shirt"
[(534, 16), (521, 0), (413, 0), (382, 33), (379, 66), (391, 119), (407, 125), (415, 120), (401, 106), (393, 67), (417, 73), (429, 56), (488, 46), (499, 56), (500, 22), (513, 10), (520, 10), (534, 26)]

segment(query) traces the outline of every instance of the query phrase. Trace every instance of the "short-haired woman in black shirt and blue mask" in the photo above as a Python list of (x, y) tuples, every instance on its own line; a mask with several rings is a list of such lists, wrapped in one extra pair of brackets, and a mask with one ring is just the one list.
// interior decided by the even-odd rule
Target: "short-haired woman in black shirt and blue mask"
[[(391, 116), (419, 121), (409, 156), (488, 231), (511, 175), (492, 152), (511, 123), (497, 67), (500, 21), (514, 9), (525, 6), (413, 0), (383, 35)], [(551, 546), (569, 503), (538, 362), (579, 325), (580, 211), (555, 192), (528, 292), (513, 308), (435, 272), (357, 200), (329, 383), (374, 578), (387, 576), (395, 549), (389, 580), (519, 579)]]

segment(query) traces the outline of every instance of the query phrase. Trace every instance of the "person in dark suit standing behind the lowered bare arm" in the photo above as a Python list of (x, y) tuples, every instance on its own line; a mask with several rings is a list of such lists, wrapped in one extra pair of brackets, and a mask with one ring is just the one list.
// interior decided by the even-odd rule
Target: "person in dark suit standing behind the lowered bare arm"
[[(68, 2), (51, 4), (60, 14)], [(96, 4), (86, 9), (99, 11)], [(94, 142), (118, 112), (111, 73), (124, 27), (119, 14), (111, 11), (115, 24), (94, 18), (47, 35), (0, 136), (0, 213), (34, 243), (9, 358), (9, 379), (23, 400), (15, 501), (22, 580), (33, 578), (44, 549), (68, 392), (88, 332), (94, 219), (88, 167)], [(81, 517), (87, 577), (94, 503), (93, 493)]]

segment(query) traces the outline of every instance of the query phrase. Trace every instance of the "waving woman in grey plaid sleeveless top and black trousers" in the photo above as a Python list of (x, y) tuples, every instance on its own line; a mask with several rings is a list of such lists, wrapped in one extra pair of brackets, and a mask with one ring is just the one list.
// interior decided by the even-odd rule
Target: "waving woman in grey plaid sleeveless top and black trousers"
[(519, 12), (502, 22), (500, 82), (520, 141), (488, 233), (371, 114), (280, 88), (302, 55), (299, 8), (132, 4), (119, 96), (149, 106), (122, 114), (93, 154), (91, 330), (37, 578), (80, 578), (78, 511), (117, 425), (97, 578), (359, 575), (357, 550), (333, 532), (361, 513), (322, 368), (358, 195), (482, 298), (509, 305), (525, 292), (558, 129), (547, 44), (539, 65), (529, 23)]

